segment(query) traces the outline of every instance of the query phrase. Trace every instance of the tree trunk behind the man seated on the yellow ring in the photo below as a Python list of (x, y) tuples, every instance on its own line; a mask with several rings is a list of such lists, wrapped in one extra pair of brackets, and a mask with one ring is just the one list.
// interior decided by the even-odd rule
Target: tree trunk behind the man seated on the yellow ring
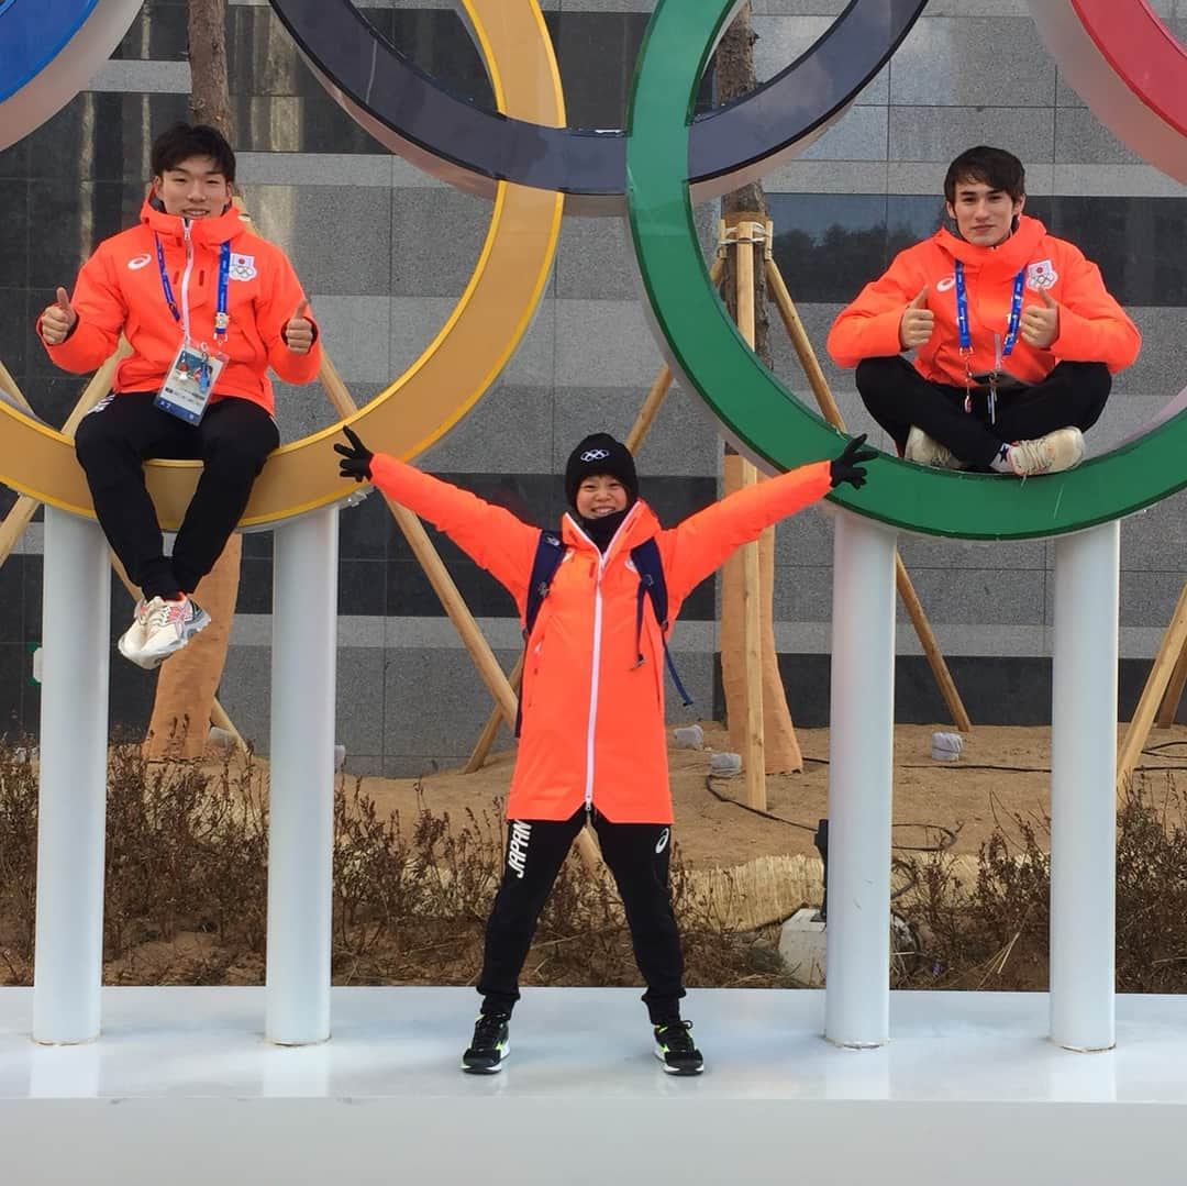
[[(190, 0), (190, 119), (233, 141), (227, 77), (227, 0)], [(234, 142), (234, 141), (233, 141)], [(242, 541), (231, 535), (214, 569), (193, 591), (211, 623), (160, 668), (144, 751), (150, 760), (195, 759), (205, 753), (230, 623), (239, 594)]]

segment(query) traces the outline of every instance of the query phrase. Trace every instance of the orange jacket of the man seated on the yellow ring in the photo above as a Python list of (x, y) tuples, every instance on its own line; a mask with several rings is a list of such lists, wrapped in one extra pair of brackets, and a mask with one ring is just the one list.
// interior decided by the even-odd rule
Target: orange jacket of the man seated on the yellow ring
[[(230, 324), (226, 343), (218, 347), (229, 361), (211, 401), (237, 395), (272, 412), (269, 366), (290, 383), (307, 383), (317, 376), (318, 342), (307, 354), (293, 354), (280, 336), (303, 300), (300, 281), (285, 253), (253, 235), (234, 207), (216, 218), (193, 218), (186, 224), (148, 202), (140, 210), (139, 226), (103, 240), (78, 273), (70, 300), (78, 315), (74, 331), (61, 345), (45, 347), (57, 366), (80, 374), (94, 370), (115, 350), (122, 332), (132, 354), (120, 362), (113, 391), (160, 387), (182, 343), (182, 326), (161, 290), (157, 237), (178, 311), (183, 316), (189, 311), (190, 338), (211, 347), (218, 253), (222, 243), (230, 242)], [(305, 316), (312, 321), (312, 313)], [(38, 334), (40, 329), (38, 321)]]

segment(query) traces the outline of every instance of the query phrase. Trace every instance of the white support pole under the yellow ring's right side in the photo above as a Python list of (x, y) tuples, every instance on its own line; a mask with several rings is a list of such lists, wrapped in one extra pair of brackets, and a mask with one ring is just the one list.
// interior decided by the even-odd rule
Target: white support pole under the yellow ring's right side
[(330, 1036), (338, 510), (274, 534), (265, 1033)]

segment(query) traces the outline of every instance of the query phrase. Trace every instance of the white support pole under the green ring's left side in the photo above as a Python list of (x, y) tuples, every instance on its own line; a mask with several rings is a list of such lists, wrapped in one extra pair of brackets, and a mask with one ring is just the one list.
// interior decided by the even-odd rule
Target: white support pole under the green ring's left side
[(845, 510), (836, 524), (824, 1032), (838, 1046), (881, 1046), (890, 1028), (896, 539)]

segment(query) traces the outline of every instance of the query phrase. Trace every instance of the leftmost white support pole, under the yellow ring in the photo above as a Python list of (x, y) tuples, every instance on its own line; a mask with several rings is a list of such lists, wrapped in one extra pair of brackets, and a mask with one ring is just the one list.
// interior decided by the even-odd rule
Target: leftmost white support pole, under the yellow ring
[(33, 1039), (99, 1035), (112, 566), (85, 519), (45, 508)]

